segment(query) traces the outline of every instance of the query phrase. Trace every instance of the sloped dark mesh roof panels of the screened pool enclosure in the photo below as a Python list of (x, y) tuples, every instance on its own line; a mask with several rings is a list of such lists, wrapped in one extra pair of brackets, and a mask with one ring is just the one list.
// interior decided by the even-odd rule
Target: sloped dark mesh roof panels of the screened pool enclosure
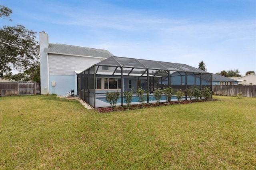
[(126, 67), (136, 69), (153, 69), (153, 70), (167, 70), (167, 71), (182, 71), (182, 72), (194, 72), (194, 73), (208, 73), (201, 69), (197, 69), (190, 65), (179, 63), (168, 63), (164, 61), (153, 61), (146, 59), (135, 59), (126, 57), (109, 57), (96, 65), (112, 66), (112, 67)]

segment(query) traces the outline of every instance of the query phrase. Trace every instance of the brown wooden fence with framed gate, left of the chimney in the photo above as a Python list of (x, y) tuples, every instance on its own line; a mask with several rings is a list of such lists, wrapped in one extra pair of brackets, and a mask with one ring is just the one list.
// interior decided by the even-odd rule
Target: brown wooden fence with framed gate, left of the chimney
[(36, 95), (41, 92), (36, 82), (0, 82), (0, 96)]

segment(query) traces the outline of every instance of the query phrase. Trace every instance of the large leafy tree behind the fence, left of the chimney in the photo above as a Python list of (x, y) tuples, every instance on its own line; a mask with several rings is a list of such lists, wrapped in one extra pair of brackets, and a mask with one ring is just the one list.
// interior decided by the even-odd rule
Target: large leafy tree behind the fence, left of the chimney
[(24, 71), (39, 60), (36, 32), (22, 25), (0, 28), (0, 77), (12, 70)]

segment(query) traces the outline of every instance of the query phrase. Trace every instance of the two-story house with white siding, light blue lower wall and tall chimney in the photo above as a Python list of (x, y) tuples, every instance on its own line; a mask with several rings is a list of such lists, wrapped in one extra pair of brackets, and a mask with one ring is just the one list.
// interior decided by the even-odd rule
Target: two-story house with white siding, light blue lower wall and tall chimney
[[(48, 42), (48, 34), (39, 32), (41, 94), (77, 93), (77, 75), (88, 67), (113, 56), (107, 50)], [(101, 71), (108, 71), (102, 66)]]

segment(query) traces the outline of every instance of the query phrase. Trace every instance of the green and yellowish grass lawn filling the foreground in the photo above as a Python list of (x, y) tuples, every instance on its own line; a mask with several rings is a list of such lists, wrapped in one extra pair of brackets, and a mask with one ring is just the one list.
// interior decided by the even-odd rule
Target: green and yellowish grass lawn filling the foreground
[(0, 97), (0, 169), (256, 169), (256, 98), (97, 113)]

